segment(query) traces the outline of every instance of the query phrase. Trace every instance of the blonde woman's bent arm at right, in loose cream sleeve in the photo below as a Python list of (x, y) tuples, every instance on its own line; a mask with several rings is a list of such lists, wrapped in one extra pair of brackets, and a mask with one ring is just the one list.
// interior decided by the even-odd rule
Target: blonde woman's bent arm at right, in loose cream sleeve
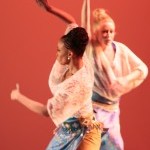
[(114, 90), (120, 91), (120, 95), (123, 95), (134, 88), (138, 87), (146, 79), (148, 75), (148, 67), (146, 64), (138, 58), (128, 47), (124, 46), (124, 51), (128, 56), (128, 65), (131, 71), (125, 76), (117, 77), (116, 81), (112, 84)]

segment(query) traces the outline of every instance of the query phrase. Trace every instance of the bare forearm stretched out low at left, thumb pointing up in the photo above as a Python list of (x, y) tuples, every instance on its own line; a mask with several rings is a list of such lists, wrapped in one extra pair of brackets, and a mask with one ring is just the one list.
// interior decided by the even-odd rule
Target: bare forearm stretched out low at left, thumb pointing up
[(25, 95), (20, 93), (19, 85), (16, 84), (16, 89), (12, 90), (11, 92), (11, 99), (16, 100), (25, 107), (27, 107), (29, 110), (43, 115), (43, 116), (49, 116), (46, 105), (43, 105), (42, 103), (36, 102)]

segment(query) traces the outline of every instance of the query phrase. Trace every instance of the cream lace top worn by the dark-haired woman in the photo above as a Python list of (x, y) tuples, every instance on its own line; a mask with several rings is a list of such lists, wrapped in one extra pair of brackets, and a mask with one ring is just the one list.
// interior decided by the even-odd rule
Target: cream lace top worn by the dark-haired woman
[(47, 110), (56, 126), (70, 117), (93, 114), (92, 87), (94, 76), (87, 59), (84, 66), (62, 82), (67, 66), (55, 62), (49, 76), (49, 86), (53, 97), (48, 100)]

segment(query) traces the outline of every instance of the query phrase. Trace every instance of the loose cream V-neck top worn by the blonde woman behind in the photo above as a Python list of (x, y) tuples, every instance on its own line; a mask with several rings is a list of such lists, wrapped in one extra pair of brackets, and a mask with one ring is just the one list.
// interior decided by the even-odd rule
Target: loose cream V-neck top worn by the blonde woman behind
[(87, 55), (94, 69), (93, 91), (109, 100), (119, 101), (120, 96), (129, 92), (133, 88), (131, 88), (130, 85), (127, 85), (120, 86), (118, 90), (115, 87), (111, 87), (113, 81), (117, 80), (119, 77), (125, 77), (132, 71), (138, 69), (141, 71), (141, 75), (133, 81), (135, 88), (146, 78), (148, 69), (142, 60), (140, 60), (127, 46), (116, 41), (113, 43), (115, 45), (116, 52), (112, 63), (110, 63), (104, 52), (101, 52), (99, 57), (100, 59), (96, 60), (92, 45), (90, 44), (87, 47)]

